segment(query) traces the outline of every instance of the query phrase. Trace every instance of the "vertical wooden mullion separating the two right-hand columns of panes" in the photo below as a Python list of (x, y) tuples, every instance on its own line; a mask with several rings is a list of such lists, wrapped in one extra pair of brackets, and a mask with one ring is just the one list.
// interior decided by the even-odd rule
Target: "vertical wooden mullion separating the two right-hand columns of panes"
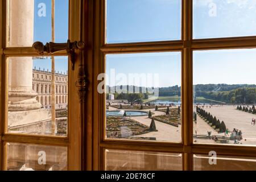
[[(192, 84), (192, 0), (183, 0), (183, 56), (182, 56), (182, 121), (183, 144), (192, 146), (192, 109), (193, 109), (193, 84)], [(191, 151), (183, 154), (183, 169), (192, 170)]]

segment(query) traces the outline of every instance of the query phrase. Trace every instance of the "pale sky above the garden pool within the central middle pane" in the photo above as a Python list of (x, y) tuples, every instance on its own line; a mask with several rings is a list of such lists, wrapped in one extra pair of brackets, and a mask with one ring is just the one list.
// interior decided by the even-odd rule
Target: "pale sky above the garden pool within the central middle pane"
[[(115, 69), (115, 75), (111, 74), (111, 69)], [(160, 53), (135, 53), (135, 54), (115, 54), (106, 56), (106, 73), (108, 74), (108, 85), (114, 86), (110, 79), (115, 78), (115, 85), (130, 85), (129, 81), (136, 86), (172, 86), (181, 83), (181, 53), (180, 52), (160, 52)], [(146, 75), (146, 82), (136, 83), (129, 74)], [(118, 74), (125, 74), (126, 78), (118, 78)], [(152, 75), (148, 75), (152, 74)], [(154, 82), (155, 74), (159, 81)], [(122, 77), (122, 75), (120, 75)], [(156, 78), (157, 78), (156, 77)], [(156, 79), (155, 78), (155, 79)], [(148, 81), (151, 81), (148, 82)]]

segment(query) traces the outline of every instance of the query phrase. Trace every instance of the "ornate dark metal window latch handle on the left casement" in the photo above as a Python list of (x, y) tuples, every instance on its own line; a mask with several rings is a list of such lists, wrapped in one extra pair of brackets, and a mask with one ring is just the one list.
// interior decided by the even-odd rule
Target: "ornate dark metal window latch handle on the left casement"
[(44, 52), (55, 53), (58, 51), (66, 50), (69, 56), (69, 60), (71, 60), (72, 70), (74, 70), (75, 69), (75, 50), (84, 49), (85, 43), (82, 41), (70, 42), (70, 40), (68, 40), (67, 43), (49, 42), (49, 43), (46, 43), (46, 45), (44, 45), (42, 42), (35, 42), (32, 47), (36, 52), (38, 52), (42, 56), (44, 55)]

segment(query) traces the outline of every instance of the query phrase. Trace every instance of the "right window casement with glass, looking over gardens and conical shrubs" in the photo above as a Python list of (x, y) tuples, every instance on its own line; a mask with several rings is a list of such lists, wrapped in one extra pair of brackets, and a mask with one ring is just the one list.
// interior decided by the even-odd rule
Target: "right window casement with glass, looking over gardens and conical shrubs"
[[(221, 161), (216, 169), (230, 169), (226, 163), (253, 165), (254, 2), (108, 0), (97, 5), (105, 6), (98, 15), (104, 19), (96, 19), (105, 34), (97, 37), (103, 46), (93, 61), (99, 65), (96, 74), (106, 73), (98, 76), (96, 99), (103, 150), (98, 169), (145, 169), (144, 162), (158, 169), (169, 160), (154, 157), (158, 151), (181, 158), (182, 168), (179, 158), (171, 157), (175, 162), (164, 169), (211, 169), (210, 151)], [(157, 15), (148, 21), (152, 11), (146, 10)], [(130, 78), (134, 73), (137, 82)], [(148, 73), (158, 73), (158, 86)], [(154, 98), (149, 91), (156, 88)]]

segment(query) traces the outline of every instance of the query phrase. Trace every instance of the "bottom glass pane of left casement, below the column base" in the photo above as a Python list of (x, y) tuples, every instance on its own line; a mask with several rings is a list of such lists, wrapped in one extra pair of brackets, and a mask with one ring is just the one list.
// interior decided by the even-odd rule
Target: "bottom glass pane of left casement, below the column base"
[(6, 143), (7, 171), (67, 171), (68, 148)]

